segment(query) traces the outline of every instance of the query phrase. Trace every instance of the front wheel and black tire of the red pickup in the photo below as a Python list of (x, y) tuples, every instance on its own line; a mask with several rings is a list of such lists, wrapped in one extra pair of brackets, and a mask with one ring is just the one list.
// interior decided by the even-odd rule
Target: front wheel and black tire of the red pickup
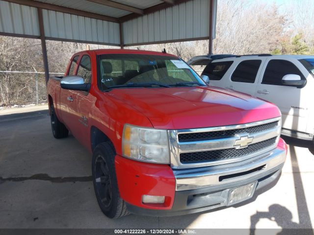
[(120, 197), (114, 157), (113, 145), (110, 142), (103, 142), (96, 146), (92, 160), (93, 183), (98, 205), (111, 219), (129, 214), (125, 201)]

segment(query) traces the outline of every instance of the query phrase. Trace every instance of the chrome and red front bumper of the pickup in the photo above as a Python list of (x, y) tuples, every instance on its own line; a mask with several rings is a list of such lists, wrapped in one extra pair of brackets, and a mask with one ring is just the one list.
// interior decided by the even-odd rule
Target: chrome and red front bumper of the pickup
[[(280, 139), (276, 149), (253, 160), (219, 166), (171, 169), (168, 165), (136, 162), (132, 166), (126, 164), (128, 169), (121, 169), (122, 162), (117, 164), (116, 160), (119, 190), (128, 210), (142, 215), (172, 216), (226, 207), (231, 188), (257, 181), (253, 195), (256, 197), (262, 188), (273, 186), (281, 174), (286, 154), (287, 145)], [(134, 182), (133, 174), (137, 177)], [(144, 194), (165, 195), (166, 201), (161, 205), (143, 204)]]

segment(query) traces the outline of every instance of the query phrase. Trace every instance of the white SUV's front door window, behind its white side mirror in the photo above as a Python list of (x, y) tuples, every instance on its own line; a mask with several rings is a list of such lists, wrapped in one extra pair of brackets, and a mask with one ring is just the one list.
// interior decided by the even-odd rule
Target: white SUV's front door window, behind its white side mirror
[(282, 78), (287, 74), (297, 74), (302, 80), (305, 80), (302, 72), (292, 62), (288, 60), (272, 59), (266, 66), (262, 84), (288, 86), (282, 83)]

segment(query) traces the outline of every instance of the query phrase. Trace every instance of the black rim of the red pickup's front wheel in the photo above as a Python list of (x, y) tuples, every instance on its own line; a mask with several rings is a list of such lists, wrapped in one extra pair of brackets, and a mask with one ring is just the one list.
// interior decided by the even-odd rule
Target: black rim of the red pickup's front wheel
[(96, 190), (101, 204), (109, 208), (112, 199), (111, 180), (108, 164), (102, 155), (98, 155), (95, 161), (95, 182)]

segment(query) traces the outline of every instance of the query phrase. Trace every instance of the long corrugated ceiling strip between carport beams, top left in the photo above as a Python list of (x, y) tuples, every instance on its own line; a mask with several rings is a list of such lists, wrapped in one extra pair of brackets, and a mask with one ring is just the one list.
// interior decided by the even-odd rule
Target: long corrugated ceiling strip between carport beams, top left
[(111, 17), (122, 17), (130, 14), (129, 11), (120, 10), (110, 6), (105, 6), (95, 2), (87, 0), (36, 0), (46, 2), (54, 5), (65, 6), (81, 11), (92, 12), (100, 15), (111, 16)]

